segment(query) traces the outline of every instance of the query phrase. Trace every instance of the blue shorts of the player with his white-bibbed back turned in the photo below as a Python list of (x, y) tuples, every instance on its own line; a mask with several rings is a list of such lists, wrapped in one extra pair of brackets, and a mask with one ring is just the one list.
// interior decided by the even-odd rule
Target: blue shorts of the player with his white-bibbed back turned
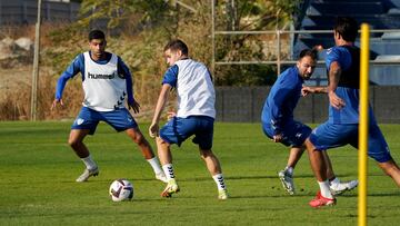
[(180, 146), (194, 135), (192, 141), (201, 149), (209, 150), (212, 147), (213, 121), (208, 116), (173, 117), (160, 129), (160, 137), (169, 144)]

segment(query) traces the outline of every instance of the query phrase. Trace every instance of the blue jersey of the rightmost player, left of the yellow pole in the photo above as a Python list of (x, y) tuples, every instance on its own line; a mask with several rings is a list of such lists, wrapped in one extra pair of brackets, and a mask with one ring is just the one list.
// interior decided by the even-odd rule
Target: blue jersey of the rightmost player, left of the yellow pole
[[(347, 71), (351, 70), (351, 67), (357, 67), (359, 71), (358, 59), (352, 59), (352, 55), (349, 51), (350, 48), (356, 47), (332, 47), (327, 51), (326, 65), (328, 71), (332, 62), (337, 61), (340, 65), (342, 75), (340, 80), (344, 80), (344, 76), (349, 76)], [(353, 62), (354, 60), (354, 62)], [(329, 76), (329, 75), (328, 75)], [(357, 79), (359, 83), (359, 75), (351, 75)], [(334, 90), (336, 95), (344, 100), (346, 106), (338, 110), (329, 105), (329, 122), (331, 124), (358, 124), (359, 122), (359, 87), (341, 86), (340, 81), (338, 88)]]

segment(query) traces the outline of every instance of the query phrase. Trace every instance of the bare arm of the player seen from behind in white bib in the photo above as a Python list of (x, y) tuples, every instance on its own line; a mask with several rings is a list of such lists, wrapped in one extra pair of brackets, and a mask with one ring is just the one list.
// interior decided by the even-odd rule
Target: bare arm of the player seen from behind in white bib
[(162, 112), (163, 108), (166, 107), (168, 94), (169, 94), (170, 89), (171, 89), (170, 85), (168, 85), (168, 83), (162, 85), (160, 96), (157, 100), (154, 116), (153, 116), (153, 119), (152, 119), (150, 128), (149, 128), (149, 135), (152, 138), (159, 136), (160, 117), (161, 117), (161, 112)]

